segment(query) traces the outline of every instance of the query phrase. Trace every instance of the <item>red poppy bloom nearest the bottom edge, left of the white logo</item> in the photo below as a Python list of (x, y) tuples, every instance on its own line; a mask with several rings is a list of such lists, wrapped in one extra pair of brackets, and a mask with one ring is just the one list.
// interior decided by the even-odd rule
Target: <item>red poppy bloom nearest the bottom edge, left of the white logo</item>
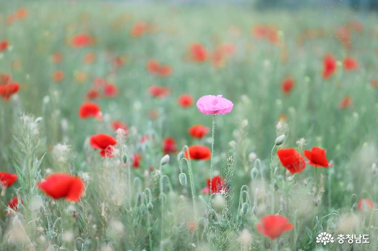
[(270, 239), (274, 240), (282, 233), (293, 228), (293, 224), (281, 215), (267, 215), (261, 219), (261, 224), (256, 224), (257, 231)]

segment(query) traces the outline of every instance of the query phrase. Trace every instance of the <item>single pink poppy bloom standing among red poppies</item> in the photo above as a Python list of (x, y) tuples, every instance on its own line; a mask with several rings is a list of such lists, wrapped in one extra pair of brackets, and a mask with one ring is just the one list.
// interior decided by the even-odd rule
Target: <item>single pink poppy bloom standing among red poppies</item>
[(232, 111), (233, 104), (222, 95), (205, 95), (198, 99), (197, 108), (203, 114), (226, 114)]

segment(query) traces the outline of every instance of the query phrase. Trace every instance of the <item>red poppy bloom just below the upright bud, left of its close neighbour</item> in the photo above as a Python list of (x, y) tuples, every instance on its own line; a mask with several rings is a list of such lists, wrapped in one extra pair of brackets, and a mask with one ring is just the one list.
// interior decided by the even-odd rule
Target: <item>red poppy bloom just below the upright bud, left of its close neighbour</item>
[(306, 167), (303, 157), (294, 148), (278, 149), (277, 155), (281, 164), (292, 174), (302, 172)]

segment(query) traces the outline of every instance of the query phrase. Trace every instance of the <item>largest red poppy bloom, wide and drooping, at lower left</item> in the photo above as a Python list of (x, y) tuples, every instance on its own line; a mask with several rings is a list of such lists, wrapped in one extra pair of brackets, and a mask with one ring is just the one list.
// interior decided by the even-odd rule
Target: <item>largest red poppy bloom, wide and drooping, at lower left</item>
[(84, 192), (84, 182), (79, 177), (67, 173), (53, 173), (38, 182), (37, 186), (54, 199), (65, 198), (70, 202), (78, 202)]

